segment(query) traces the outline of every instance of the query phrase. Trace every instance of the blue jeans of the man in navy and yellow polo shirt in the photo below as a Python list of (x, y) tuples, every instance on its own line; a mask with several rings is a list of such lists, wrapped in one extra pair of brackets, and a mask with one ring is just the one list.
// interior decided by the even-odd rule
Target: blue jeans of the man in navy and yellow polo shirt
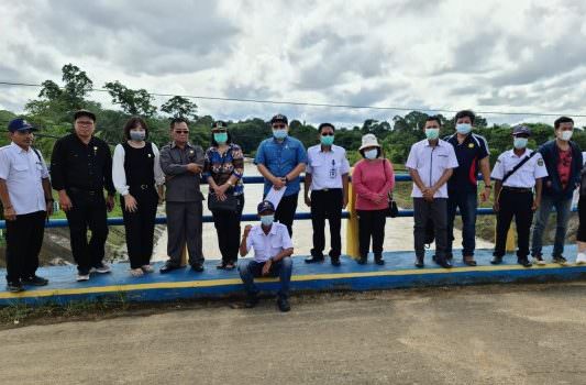
[(462, 216), (462, 256), (474, 256), (476, 249), (476, 208), (478, 197), (476, 191), (451, 191), (447, 198), (447, 248), (446, 255), (452, 255), (454, 242), (454, 219), (456, 209)]

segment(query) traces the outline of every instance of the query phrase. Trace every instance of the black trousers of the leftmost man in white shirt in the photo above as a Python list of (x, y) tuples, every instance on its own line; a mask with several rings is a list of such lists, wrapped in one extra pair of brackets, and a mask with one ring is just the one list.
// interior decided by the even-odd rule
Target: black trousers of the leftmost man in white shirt
[(19, 283), (35, 275), (45, 218), (46, 211), (36, 211), (7, 221), (7, 282)]

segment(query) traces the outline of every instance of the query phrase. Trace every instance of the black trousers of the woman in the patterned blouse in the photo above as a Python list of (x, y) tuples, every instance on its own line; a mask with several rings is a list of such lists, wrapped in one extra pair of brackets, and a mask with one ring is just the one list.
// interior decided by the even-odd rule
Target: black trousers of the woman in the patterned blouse
[(244, 208), (244, 195), (236, 197), (239, 202), (236, 212), (212, 211), (213, 226), (218, 233), (218, 245), (222, 254), (222, 262), (235, 263), (240, 248), (240, 218)]

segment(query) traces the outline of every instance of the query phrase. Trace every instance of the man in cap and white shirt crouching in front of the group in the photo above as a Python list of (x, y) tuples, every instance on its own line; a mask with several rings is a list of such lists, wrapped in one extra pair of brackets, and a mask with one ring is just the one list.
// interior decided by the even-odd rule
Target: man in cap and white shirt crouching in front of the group
[(240, 255), (245, 256), (254, 249), (254, 258), (243, 261), (239, 265), (240, 277), (246, 290), (247, 308), (258, 302), (258, 288), (255, 277), (279, 277), (277, 306), (280, 311), (289, 311), (289, 282), (291, 280), (294, 252), (291, 238), (287, 227), (275, 222), (275, 207), (268, 200), (262, 201), (257, 210), (261, 224), (247, 224), (244, 228)]

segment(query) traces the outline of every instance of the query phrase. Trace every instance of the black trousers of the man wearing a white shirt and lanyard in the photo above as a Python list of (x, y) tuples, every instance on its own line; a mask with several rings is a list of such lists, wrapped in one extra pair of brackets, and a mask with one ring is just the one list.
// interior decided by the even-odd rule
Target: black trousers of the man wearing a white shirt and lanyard
[(311, 191), (311, 224), (313, 226), (313, 249), (311, 255), (323, 256), (325, 248), (325, 220), (330, 223), (330, 256), (342, 254), (342, 206), (343, 196), (341, 188)]

